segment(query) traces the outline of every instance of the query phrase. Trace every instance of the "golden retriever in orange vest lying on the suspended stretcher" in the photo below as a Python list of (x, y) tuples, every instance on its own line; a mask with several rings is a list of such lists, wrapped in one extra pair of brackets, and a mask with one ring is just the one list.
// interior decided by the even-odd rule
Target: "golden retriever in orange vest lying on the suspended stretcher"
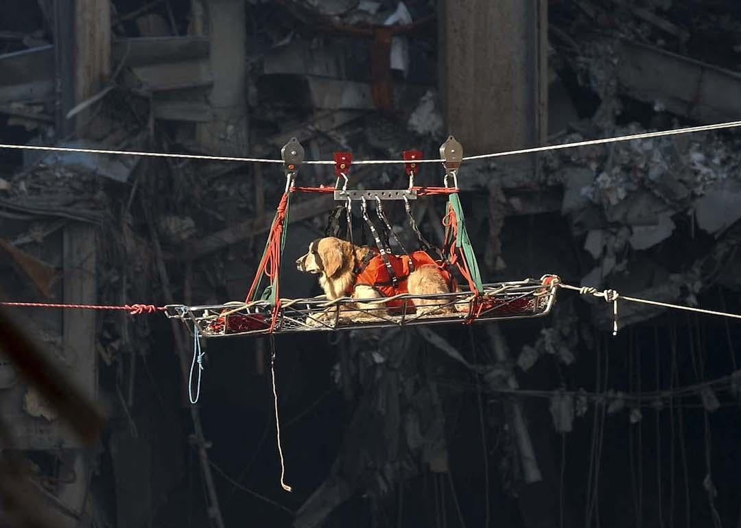
[[(383, 298), (396, 292), (410, 295), (436, 295), (457, 291), (452, 276), (427, 255), (416, 252), (409, 256), (392, 255), (399, 287), (394, 290), (386, 284), (358, 284), (359, 276), (364, 278), (369, 267), (376, 267), (385, 272), (377, 250), (368, 246), (354, 246), (348, 241), (335, 237), (319, 238), (309, 244), (308, 253), (296, 260), (296, 268), (305, 273), (319, 275), (319, 285), (324, 290), (328, 301), (341, 297), (357, 299), (359, 310), (370, 310), (371, 313), (387, 313), (391, 309), (387, 303), (363, 303), (366, 299)], [(404, 260), (406, 259), (406, 260)], [(414, 262), (413, 270), (409, 260)], [(405, 275), (404, 270), (408, 273)], [(399, 273), (401, 271), (401, 273)], [(386, 273), (388, 278), (388, 273)], [(384, 295), (386, 293), (386, 295)], [(445, 304), (439, 299), (412, 299), (415, 307), (432, 307)], [(439, 309), (431, 308), (431, 311)], [(446, 310), (450, 311), (450, 310)]]

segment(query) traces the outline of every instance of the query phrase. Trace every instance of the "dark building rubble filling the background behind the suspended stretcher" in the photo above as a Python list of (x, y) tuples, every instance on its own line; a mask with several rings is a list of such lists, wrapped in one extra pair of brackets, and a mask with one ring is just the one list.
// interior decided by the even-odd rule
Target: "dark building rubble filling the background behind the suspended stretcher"
[[(219, 62), (219, 19), (201, 1), (113, 0), (113, 74), (73, 109), (70, 133), (57, 115), (54, 4), (0, 5), (2, 143), (275, 158), (296, 136), (310, 159), (360, 159), (434, 156), (448, 133), (436, 2), (247, 0), (247, 45), (230, 48), (225, 36)], [(549, 142), (741, 115), (737, 2), (548, 6)], [(382, 48), (388, 65), (374, 47), (378, 26), (405, 28)], [(531, 158), (465, 164), (485, 278), (556, 273), (741, 313), (739, 143), (733, 132), (698, 133), (558, 150), (536, 170)], [(352, 176), (367, 188), (405, 181), (393, 166)], [(418, 181), (441, 176), (425, 167)], [(61, 298), (64, 233), (82, 223), (95, 233), (102, 304), (239, 299), (281, 180), (255, 164), (0, 150), (2, 289)], [(333, 173), (305, 167), (301, 181), (332, 184)], [(288, 262), (332, 207), (322, 196), (296, 202)], [(431, 240), (442, 213), (437, 202), (417, 210)], [(401, 212), (389, 216), (413, 244)], [(282, 281), (292, 295), (318, 293), (293, 269)], [(54, 356), (73, 361), (64, 321), (31, 319)], [(55, 418), (11, 364), (0, 364), (0, 398), (19, 417), (10, 424), (31, 431), (35, 478), (57, 498), (80, 484), (78, 516), (96, 527), (736, 526), (740, 330), (626, 304), (619, 322), (611, 338), (610, 307), (562, 295), (538, 321), (278, 338), (293, 494), (277, 485), (261, 341), (209, 343), (193, 409), (178, 371), (190, 352), (167, 321), (99, 317), (93, 359), (110, 421), (86, 454), (87, 480), (65, 466), (73, 446), (44, 443), (64, 435), (45, 429)]]

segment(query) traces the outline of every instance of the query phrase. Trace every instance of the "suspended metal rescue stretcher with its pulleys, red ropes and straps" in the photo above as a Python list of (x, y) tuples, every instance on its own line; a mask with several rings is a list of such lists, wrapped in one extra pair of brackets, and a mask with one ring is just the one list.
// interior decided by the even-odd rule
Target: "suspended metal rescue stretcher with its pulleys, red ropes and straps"
[[(534, 318), (550, 313), (559, 284), (556, 275), (544, 275), (539, 280), (528, 278), (493, 284), (482, 282), (459, 198), (458, 170), (462, 161), (462, 146), (453, 136), (440, 147), (440, 156), (445, 167), (443, 187), (418, 187), (414, 184), (419, 168), (416, 160), (422, 158), (422, 153), (417, 150), (403, 153), (405, 171), (409, 178), (409, 185), (405, 190), (349, 190), (351, 153), (335, 153), (334, 187), (298, 187), (295, 181), (304, 158), (303, 147), (296, 138), (292, 138), (283, 147), (281, 155), (286, 177), (285, 191), (276, 209), (265, 251), (245, 301), (212, 306), (188, 307), (172, 304), (165, 307), (167, 317), (184, 321), (188, 330), (196, 337), (257, 336), (419, 324), (471, 324), (476, 321)], [(341, 185), (342, 181), (344, 184)], [(361, 203), (362, 218), (375, 242), (376, 247), (373, 250), (378, 253), (376, 258), (382, 263), (376, 262), (376, 268), (373, 269), (377, 270), (378, 276), (371, 274), (374, 277), (372, 282), (379, 285), (390, 282), (393, 285), (391, 293), (386, 291), (389, 288), (379, 286), (376, 290), (383, 292), (382, 296), (372, 299), (328, 299), (325, 296), (291, 299), (280, 295), (282, 255), (291, 196), (295, 193), (333, 194), (335, 201), (342, 202), (344, 205), (336, 207), (335, 213), (330, 215), (327, 235), (338, 236), (339, 217), (344, 212), (350, 243), (353, 241), (352, 204), (353, 201)], [(410, 201), (422, 196), (448, 198), (447, 212), (442, 218), (445, 227), (442, 249), (424, 238), (413, 218)], [(409, 225), (419, 241), (419, 251), (410, 253), (396, 236), (382, 207), (385, 201), (404, 202)], [(369, 203), (373, 202), (379, 221), (378, 228), (369, 215)], [(410, 270), (406, 270), (404, 266), (396, 269), (393, 262), (397, 257), (391, 253), (391, 238), (396, 240), (396, 245), (407, 259), (414, 261), (414, 255), (424, 255), (423, 260), (438, 264), (441, 273), (456, 271), (465, 279), (461, 286), (467, 287), (463, 291), (456, 289), (453, 293), (434, 295), (415, 296), (409, 293), (405, 287), (405, 277), (411, 270), (411, 264)], [(432, 253), (437, 253), (439, 258), (432, 258)], [(360, 274), (359, 278), (362, 272)], [(263, 284), (266, 280), (267, 286)], [(415, 303), (415, 300), (423, 302)], [(420, 306), (416, 307), (416, 304)]]

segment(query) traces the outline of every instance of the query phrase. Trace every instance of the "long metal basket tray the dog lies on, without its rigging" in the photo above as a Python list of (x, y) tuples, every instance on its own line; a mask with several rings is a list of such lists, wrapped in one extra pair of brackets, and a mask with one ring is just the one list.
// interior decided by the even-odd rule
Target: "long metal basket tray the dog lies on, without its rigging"
[[(324, 296), (281, 299), (273, 333), (331, 332), (365, 328), (408, 327), (419, 324), (534, 318), (547, 315), (555, 302), (558, 281), (524, 281), (485, 284), (482, 295), (469, 291), (437, 295), (396, 295), (358, 300)], [(389, 308), (390, 301), (399, 305)], [(273, 304), (269, 301), (232, 302), (187, 307), (165, 307), (169, 318), (178, 318), (204, 337), (266, 335), (270, 333)]]

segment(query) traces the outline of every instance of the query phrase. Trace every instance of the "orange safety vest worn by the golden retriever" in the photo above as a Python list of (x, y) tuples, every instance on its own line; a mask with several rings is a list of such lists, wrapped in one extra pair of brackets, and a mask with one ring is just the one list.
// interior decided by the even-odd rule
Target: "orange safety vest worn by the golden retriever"
[[(394, 295), (409, 293), (407, 281), (413, 270), (419, 270), (422, 266), (433, 265), (438, 268), (439, 273), (451, 291), (453, 290), (453, 275), (445, 269), (441, 262), (435, 261), (425, 251), (415, 251), (411, 255), (387, 255), (387, 258), (391, 263), (393, 274), (396, 275), (396, 286), (391, 281), (391, 275), (389, 275), (381, 255), (371, 258), (368, 266), (357, 276), (355, 284), (370, 286), (384, 297), (393, 297)], [(401, 308), (403, 304), (404, 301), (396, 299), (394, 301), (388, 301), (386, 307)], [(408, 313), (413, 313), (414, 311), (413, 304), (409, 301), (407, 302), (407, 310)]]

